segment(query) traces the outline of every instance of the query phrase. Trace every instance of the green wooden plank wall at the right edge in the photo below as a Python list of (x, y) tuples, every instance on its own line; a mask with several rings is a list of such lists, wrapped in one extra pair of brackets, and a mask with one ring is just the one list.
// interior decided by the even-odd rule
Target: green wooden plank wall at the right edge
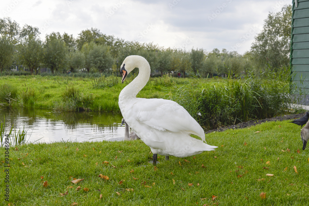
[[(293, 82), (309, 95), (309, 0), (293, 0), (291, 36), (291, 73)], [(303, 104), (309, 103), (309, 97)]]

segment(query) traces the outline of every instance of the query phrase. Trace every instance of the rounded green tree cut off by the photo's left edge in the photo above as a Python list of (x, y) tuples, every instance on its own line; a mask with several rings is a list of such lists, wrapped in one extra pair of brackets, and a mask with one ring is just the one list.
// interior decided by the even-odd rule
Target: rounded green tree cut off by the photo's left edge
[(11, 66), (14, 55), (14, 44), (6, 37), (0, 36), (0, 71)]

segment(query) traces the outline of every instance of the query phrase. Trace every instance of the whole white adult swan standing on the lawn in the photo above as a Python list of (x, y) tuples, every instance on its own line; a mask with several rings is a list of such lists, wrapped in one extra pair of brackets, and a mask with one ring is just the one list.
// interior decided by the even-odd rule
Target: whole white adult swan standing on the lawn
[[(205, 144), (205, 133), (184, 107), (166, 99), (136, 98), (150, 77), (150, 65), (144, 57), (128, 56), (121, 65), (122, 83), (139, 68), (138, 76), (119, 94), (119, 107), (126, 123), (150, 147), (153, 164), (157, 154), (188, 157), (217, 148)], [(202, 140), (190, 136), (195, 134)]]

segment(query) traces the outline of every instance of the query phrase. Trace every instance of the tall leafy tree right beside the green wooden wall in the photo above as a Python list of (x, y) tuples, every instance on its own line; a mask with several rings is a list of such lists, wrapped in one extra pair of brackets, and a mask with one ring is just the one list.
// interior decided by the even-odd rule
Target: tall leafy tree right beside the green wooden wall
[(277, 13), (269, 13), (263, 30), (255, 37), (251, 53), (258, 67), (267, 64), (275, 70), (289, 64), (292, 6), (285, 5)]

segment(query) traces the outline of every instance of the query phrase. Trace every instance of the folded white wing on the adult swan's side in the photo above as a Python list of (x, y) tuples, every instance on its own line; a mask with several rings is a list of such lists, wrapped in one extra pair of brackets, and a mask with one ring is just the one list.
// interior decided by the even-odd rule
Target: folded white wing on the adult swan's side
[(184, 107), (166, 99), (143, 99), (139, 102), (137, 119), (160, 131), (188, 132), (205, 141), (205, 134), (197, 121)]

